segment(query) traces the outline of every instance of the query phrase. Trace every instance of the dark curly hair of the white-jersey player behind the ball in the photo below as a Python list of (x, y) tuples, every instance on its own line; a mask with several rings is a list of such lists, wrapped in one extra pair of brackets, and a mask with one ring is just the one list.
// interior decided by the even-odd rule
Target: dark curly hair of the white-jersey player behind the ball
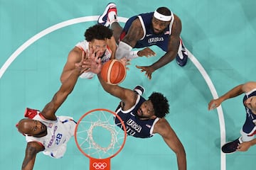
[(95, 26), (91, 26), (87, 30), (85, 30), (85, 40), (88, 42), (92, 40), (105, 40), (110, 39), (113, 35), (113, 30), (102, 26), (100, 24), (96, 24)]

